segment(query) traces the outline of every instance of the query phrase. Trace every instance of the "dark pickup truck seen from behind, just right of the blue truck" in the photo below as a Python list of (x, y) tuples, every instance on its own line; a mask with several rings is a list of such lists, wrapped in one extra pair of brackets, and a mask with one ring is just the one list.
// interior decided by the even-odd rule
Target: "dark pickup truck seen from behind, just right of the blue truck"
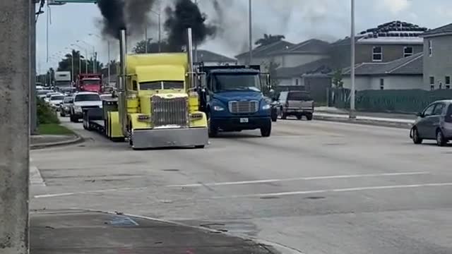
[(283, 91), (278, 99), (278, 116), (286, 119), (287, 116), (302, 116), (311, 121), (314, 114), (314, 99), (306, 91)]

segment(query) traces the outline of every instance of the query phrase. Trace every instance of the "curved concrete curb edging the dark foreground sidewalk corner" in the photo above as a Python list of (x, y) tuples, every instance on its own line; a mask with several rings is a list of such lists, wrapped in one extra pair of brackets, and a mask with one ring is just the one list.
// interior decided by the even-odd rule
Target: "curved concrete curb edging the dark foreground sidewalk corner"
[[(86, 211), (86, 212), (102, 212), (102, 213), (105, 213), (105, 214), (119, 214), (118, 212), (105, 212), (105, 211), (100, 211), (100, 210), (81, 209), (81, 208), (78, 208), (78, 207), (72, 207), (69, 210), (79, 210), (79, 211)], [(191, 226), (191, 225), (184, 224), (184, 223), (181, 223), (181, 222), (172, 222), (172, 221), (168, 221), (168, 220), (165, 220), (165, 219), (157, 219), (157, 218), (153, 218), (153, 217), (147, 217), (147, 216), (136, 215), (136, 214), (129, 214), (129, 213), (125, 213), (125, 212), (121, 213), (121, 215), (125, 215), (125, 216), (128, 216), (128, 217), (136, 217), (136, 218), (139, 218), (139, 219), (149, 219), (149, 220), (153, 220), (155, 222), (163, 222), (163, 223), (173, 224), (173, 225), (177, 225), (177, 226), (185, 226), (185, 227), (188, 227), (188, 228), (191, 228), (191, 229), (197, 229), (197, 230), (200, 230), (200, 231), (207, 231), (207, 232), (215, 233), (215, 234), (224, 234), (226, 236), (241, 238), (244, 241), (254, 241), (258, 245), (261, 245), (263, 247), (266, 247), (266, 246), (267, 247), (271, 247), (274, 250), (278, 251), (278, 253), (280, 253), (280, 254), (304, 254), (304, 253), (302, 253), (301, 250), (297, 250), (295, 248), (291, 248), (291, 247), (288, 247), (288, 246), (283, 246), (280, 243), (274, 243), (272, 241), (266, 241), (266, 240), (263, 240), (263, 239), (252, 238), (252, 237), (249, 237), (249, 236), (241, 236), (241, 235), (231, 234), (229, 232), (215, 230), (215, 229), (208, 229), (208, 228), (203, 227), (203, 226)], [(277, 254), (277, 253), (275, 253), (275, 254)]]

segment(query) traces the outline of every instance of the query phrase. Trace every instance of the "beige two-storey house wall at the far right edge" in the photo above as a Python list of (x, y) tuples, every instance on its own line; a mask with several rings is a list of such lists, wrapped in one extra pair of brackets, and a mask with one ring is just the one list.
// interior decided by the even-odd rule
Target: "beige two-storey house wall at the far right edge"
[[(432, 40), (432, 56), (429, 40)], [(430, 77), (434, 77), (434, 89), (439, 89), (440, 83), (445, 88), (446, 76), (452, 79), (452, 35), (424, 38), (424, 89), (431, 89)]]

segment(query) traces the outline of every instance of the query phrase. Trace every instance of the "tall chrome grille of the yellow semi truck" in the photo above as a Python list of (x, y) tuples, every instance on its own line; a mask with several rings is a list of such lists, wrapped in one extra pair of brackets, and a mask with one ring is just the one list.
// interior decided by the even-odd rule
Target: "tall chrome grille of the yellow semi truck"
[(162, 126), (188, 127), (188, 106), (188, 98), (186, 97), (165, 99), (154, 96), (151, 101), (154, 128)]

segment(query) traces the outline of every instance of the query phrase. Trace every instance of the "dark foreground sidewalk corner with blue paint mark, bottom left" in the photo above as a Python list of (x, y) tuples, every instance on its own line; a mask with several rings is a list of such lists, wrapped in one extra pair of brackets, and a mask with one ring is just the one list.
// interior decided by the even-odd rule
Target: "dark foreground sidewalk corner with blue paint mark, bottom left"
[(30, 214), (31, 254), (273, 254), (269, 246), (221, 232), (81, 210)]

